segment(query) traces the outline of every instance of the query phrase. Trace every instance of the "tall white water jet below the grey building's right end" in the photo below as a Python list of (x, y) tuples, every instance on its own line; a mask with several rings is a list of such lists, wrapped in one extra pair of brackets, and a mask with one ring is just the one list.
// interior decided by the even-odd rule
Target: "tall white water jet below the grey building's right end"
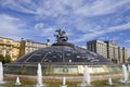
[(122, 64), (122, 73), (121, 73), (121, 78), (120, 78), (120, 83), (128, 83), (128, 71), (127, 71), (127, 66), (125, 64)]

